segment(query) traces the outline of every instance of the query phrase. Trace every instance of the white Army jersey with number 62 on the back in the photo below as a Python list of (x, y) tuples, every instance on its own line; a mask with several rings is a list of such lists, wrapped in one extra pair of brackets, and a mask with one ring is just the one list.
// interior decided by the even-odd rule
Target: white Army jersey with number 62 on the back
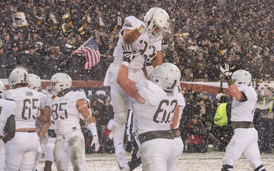
[(132, 106), (136, 134), (170, 130), (170, 122), (176, 106), (181, 104), (179, 91), (175, 89), (165, 92), (160, 86), (146, 79), (140, 79), (136, 83), (136, 89), (145, 99), (145, 103), (135, 101)]

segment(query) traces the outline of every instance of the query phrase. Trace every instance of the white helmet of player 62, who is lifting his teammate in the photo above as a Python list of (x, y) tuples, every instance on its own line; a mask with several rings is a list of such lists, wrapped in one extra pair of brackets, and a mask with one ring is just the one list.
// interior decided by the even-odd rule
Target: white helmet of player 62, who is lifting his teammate
[(162, 89), (173, 91), (181, 79), (181, 73), (174, 64), (164, 63), (154, 68), (150, 75), (150, 81), (159, 85)]

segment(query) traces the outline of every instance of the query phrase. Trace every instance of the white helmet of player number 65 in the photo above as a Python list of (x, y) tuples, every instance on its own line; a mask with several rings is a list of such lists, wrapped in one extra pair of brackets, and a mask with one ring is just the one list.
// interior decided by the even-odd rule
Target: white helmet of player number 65
[(21, 68), (11, 71), (11, 74), (8, 77), (8, 85), (10, 89), (13, 89), (18, 83), (29, 83), (29, 74), (26, 70)]

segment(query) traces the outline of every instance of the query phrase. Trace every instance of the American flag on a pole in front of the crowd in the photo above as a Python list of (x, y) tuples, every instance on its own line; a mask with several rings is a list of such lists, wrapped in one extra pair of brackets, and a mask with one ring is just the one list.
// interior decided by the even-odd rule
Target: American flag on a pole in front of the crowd
[(75, 53), (86, 52), (86, 63), (83, 67), (84, 70), (89, 70), (91, 67), (98, 64), (100, 60), (100, 51), (97, 43), (91, 37), (82, 46), (80, 46)]

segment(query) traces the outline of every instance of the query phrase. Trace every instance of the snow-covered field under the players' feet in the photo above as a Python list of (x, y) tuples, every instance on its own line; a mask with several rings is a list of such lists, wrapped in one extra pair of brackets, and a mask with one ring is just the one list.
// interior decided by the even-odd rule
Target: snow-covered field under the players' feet
[[(224, 152), (214, 151), (210, 149), (209, 152), (201, 153), (183, 153), (179, 162), (177, 163), (176, 170), (190, 170), (190, 171), (220, 171), (222, 167), (222, 159)], [(87, 154), (86, 155), (86, 169), (87, 171), (118, 171), (117, 164), (114, 159), (114, 154)], [(126, 154), (126, 159), (129, 161), (131, 154)], [(42, 171), (44, 167), (44, 157), (42, 157), (36, 169)], [(261, 154), (261, 159), (266, 170), (273, 170), (274, 168), (274, 155)], [(142, 165), (141, 165), (142, 166)], [(136, 171), (142, 171), (142, 167), (136, 168)], [(73, 170), (71, 165), (69, 170)], [(234, 165), (235, 171), (252, 171), (244, 155)], [(53, 164), (52, 171), (56, 171)]]

